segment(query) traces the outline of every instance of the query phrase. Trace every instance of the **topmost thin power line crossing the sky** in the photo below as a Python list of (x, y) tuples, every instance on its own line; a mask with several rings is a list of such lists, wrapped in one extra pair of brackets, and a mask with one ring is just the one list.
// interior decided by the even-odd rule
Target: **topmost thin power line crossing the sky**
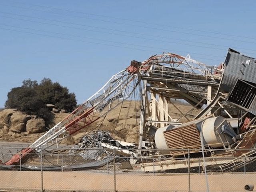
[(247, 39), (254, 39), (254, 40), (256, 40), (256, 38), (246, 37), (246, 36), (238, 36), (238, 35), (224, 34), (224, 33), (219, 33), (219, 32), (212, 32), (212, 31), (205, 31), (205, 30), (196, 30), (196, 29), (191, 29), (191, 28), (183, 28), (183, 27), (163, 25), (163, 24), (156, 24), (156, 23), (150, 23), (150, 22), (142, 22), (142, 21), (137, 21), (137, 20), (130, 20), (130, 19), (124, 19), (124, 18), (110, 17), (110, 16), (106, 16), (106, 15), (98, 15), (98, 14), (91, 14), (91, 13), (86, 13), (86, 12), (77, 12), (77, 11), (72, 11), (72, 10), (67, 10), (67, 9), (52, 8), (52, 7), (48, 7), (48, 6), (42, 6), (42, 5), (21, 3), (21, 2), (12, 1), (12, 0), (9, 0), (9, 2), (15, 2), (15, 3), (18, 3), (18, 4), (26, 4), (26, 5), (30, 5), (30, 6), (36, 6), (36, 7), (42, 7), (42, 8), (50, 8), (50, 9), (67, 11), (67, 12), (73, 12), (73, 13), (79, 13), (79, 14), (86, 14), (86, 15), (92, 15), (92, 16), (100, 16), (100, 17), (104, 17), (104, 18), (118, 19), (118, 20), (131, 21), (131, 22), (138, 22), (138, 23), (144, 23), (144, 24), (150, 24), (150, 25), (156, 25), (156, 26), (165, 26), (165, 27), (172, 27), (172, 28), (178, 28), (178, 29), (185, 29), (185, 30), (191, 30), (191, 31), (206, 32), (206, 33), (212, 33), (212, 34), (218, 34), (218, 35), (226, 35), (226, 36), (233, 36), (233, 37), (247, 38)]

